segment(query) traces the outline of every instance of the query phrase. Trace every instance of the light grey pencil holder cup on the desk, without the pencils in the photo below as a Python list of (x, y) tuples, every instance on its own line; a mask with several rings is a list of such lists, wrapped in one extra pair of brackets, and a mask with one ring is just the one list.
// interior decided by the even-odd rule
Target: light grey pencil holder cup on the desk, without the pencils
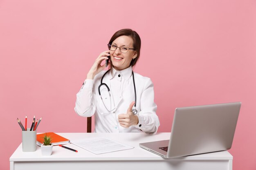
[(36, 130), (30, 131), (30, 128), (27, 128), (27, 131), (22, 131), (22, 151), (36, 151)]

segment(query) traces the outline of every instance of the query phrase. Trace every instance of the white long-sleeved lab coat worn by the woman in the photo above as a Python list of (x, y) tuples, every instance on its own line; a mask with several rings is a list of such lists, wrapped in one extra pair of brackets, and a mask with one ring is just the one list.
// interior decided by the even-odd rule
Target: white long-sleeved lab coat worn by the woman
[(154, 89), (150, 78), (134, 73), (139, 123), (136, 126), (124, 128), (118, 122), (118, 115), (126, 113), (130, 103), (135, 101), (132, 67), (121, 71), (113, 69), (113, 75), (109, 71), (103, 78), (102, 82), (110, 88), (111, 107), (106, 86), (101, 86), (101, 96), (108, 110), (112, 110), (111, 112), (103, 105), (98, 91), (104, 73), (106, 71), (101, 71), (93, 80), (85, 79), (82, 88), (76, 94), (74, 108), (76, 113), (83, 117), (95, 116), (94, 132), (143, 131), (155, 134), (160, 123), (156, 115), (157, 105), (154, 102)]

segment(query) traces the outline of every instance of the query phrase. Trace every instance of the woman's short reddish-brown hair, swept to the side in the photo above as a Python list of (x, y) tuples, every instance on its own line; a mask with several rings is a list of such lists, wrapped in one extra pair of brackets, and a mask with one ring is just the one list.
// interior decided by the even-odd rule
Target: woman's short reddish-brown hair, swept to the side
[[(136, 31), (133, 31), (131, 29), (121, 29), (121, 30), (115, 32), (114, 35), (110, 38), (109, 44), (112, 44), (112, 42), (115, 39), (117, 39), (118, 37), (120, 37), (122, 35), (130, 36), (133, 40), (133, 48), (137, 52), (137, 57), (135, 59), (133, 59), (130, 63), (130, 66), (133, 67), (139, 60), (140, 47), (141, 47), (141, 40), (140, 40), (139, 34)], [(110, 68), (111, 68), (110, 71), (112, 72), (113, 65), (112, 65), (111, 60), (110, 60)]]

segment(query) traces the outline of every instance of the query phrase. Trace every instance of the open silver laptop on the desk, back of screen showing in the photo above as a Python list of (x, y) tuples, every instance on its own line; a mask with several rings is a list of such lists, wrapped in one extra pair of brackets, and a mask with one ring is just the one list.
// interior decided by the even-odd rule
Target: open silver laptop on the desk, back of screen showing
[(139, 146), (164, 158), (231, 148), (241, 102), (176, 108), (170, 140)]

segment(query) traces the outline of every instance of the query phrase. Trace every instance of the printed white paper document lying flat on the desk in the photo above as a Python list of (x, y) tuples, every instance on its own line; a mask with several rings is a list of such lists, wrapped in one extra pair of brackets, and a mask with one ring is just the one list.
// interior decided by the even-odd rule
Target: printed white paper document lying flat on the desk
[(71, 140), (71, 143), (94, 154), (132, 149), (133, 147), (102, 137)]

